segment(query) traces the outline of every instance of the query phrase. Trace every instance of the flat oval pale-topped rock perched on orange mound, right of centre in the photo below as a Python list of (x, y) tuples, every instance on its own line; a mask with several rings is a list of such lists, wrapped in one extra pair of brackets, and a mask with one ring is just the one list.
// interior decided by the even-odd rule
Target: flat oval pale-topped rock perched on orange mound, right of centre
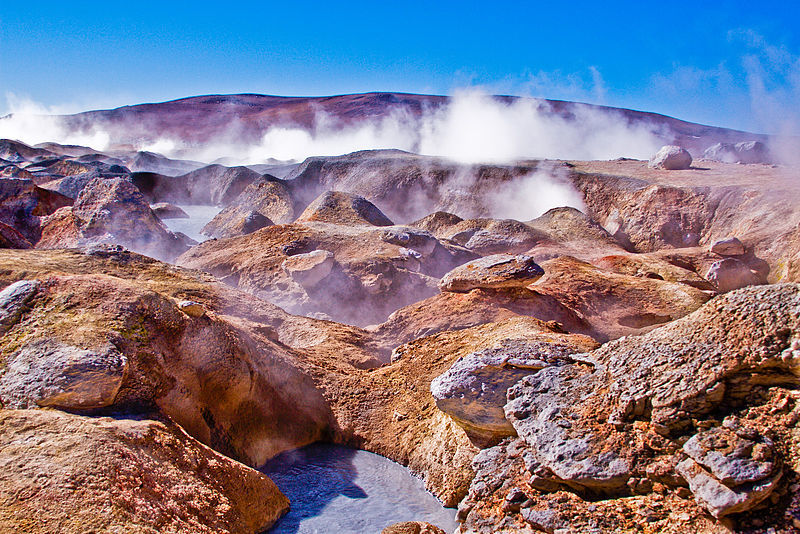
[(527, 287), (544, 275), (544, 270), (524, 254), (494, 254), (460, 265), (444, 275), (439, 289), (466, 293), (473, 289)]

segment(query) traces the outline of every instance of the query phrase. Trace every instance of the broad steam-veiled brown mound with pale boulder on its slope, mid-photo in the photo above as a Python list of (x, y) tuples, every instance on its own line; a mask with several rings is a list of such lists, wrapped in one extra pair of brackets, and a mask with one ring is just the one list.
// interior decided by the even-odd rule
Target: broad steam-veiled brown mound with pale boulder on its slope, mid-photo
[(475, 257), (421, 230), (358, 220), (276, 225), (207, 241), (178, 263), (210, 272), (291, 313), (368, 325), (434, 295), (440, 276)]

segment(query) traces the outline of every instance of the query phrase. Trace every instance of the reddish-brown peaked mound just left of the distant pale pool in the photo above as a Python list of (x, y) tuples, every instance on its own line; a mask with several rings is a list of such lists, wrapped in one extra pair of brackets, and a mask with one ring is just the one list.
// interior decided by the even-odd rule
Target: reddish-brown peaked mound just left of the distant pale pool
[(71, 207), (42, 221), (38, 248), (120, 244), (156, 258), (173, 260), (188, 248), (156, 217), (144, 196), (121, 178), (96, 179)]

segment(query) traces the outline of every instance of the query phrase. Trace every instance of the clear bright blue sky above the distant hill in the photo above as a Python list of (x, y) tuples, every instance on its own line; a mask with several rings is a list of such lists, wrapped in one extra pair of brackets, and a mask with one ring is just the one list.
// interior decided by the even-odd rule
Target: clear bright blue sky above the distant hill
[(796, 0), (2, 1), (0, 114), (479, 85), (765, 131), (800, 118), (798, 34)]

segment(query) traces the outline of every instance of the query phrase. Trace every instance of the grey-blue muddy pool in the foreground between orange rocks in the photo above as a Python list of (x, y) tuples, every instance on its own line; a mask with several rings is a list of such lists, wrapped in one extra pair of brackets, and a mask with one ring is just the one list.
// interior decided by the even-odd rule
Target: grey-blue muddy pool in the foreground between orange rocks
[(291, 501), (270, 533), (378, 534), (399, 521), (457, 527), (455, 509), (443, 507), (422, 480), (371, 452), (314, 444), (280, 454), (261, 471)]

